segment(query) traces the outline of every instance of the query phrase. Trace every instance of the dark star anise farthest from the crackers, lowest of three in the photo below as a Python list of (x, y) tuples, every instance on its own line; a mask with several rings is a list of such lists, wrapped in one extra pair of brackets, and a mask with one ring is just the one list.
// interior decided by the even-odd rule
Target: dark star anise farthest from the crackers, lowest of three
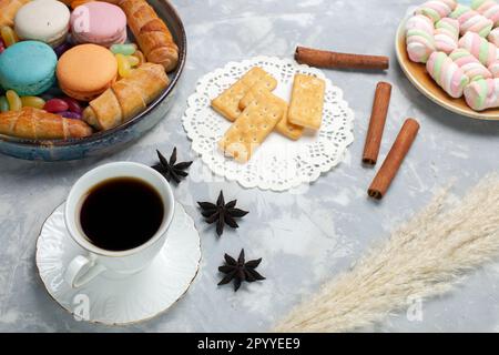
[(220, 285), (226, 285), (234, 280), (234, 292), (240, 290), (241, 284), (245, 282), (255, 282), (265, 280), (255, 268), (258, 267), (262, 262), (262, 257), (245, 262), (244, 248), (241, 250), (237, 261), (228, 254), (225, 254), (225, 265), (220, 266), (218, 271), (224, 273), (225, 276), (218, 283)]

